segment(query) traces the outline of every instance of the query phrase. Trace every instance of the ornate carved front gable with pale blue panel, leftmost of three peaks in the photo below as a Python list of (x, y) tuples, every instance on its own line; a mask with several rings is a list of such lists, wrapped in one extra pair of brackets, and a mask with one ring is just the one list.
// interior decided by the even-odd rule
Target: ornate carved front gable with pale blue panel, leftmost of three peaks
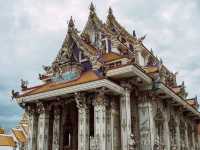
[(60, 51), (51, 66), (43, 67), (46, 74), (40, 75), (40, 79), (46, 82), (74, 80), (84, 71), (95, 67), (99, 69), (101, 63), (98, 62), (97, 51), (78, 35), (71, 17)]

